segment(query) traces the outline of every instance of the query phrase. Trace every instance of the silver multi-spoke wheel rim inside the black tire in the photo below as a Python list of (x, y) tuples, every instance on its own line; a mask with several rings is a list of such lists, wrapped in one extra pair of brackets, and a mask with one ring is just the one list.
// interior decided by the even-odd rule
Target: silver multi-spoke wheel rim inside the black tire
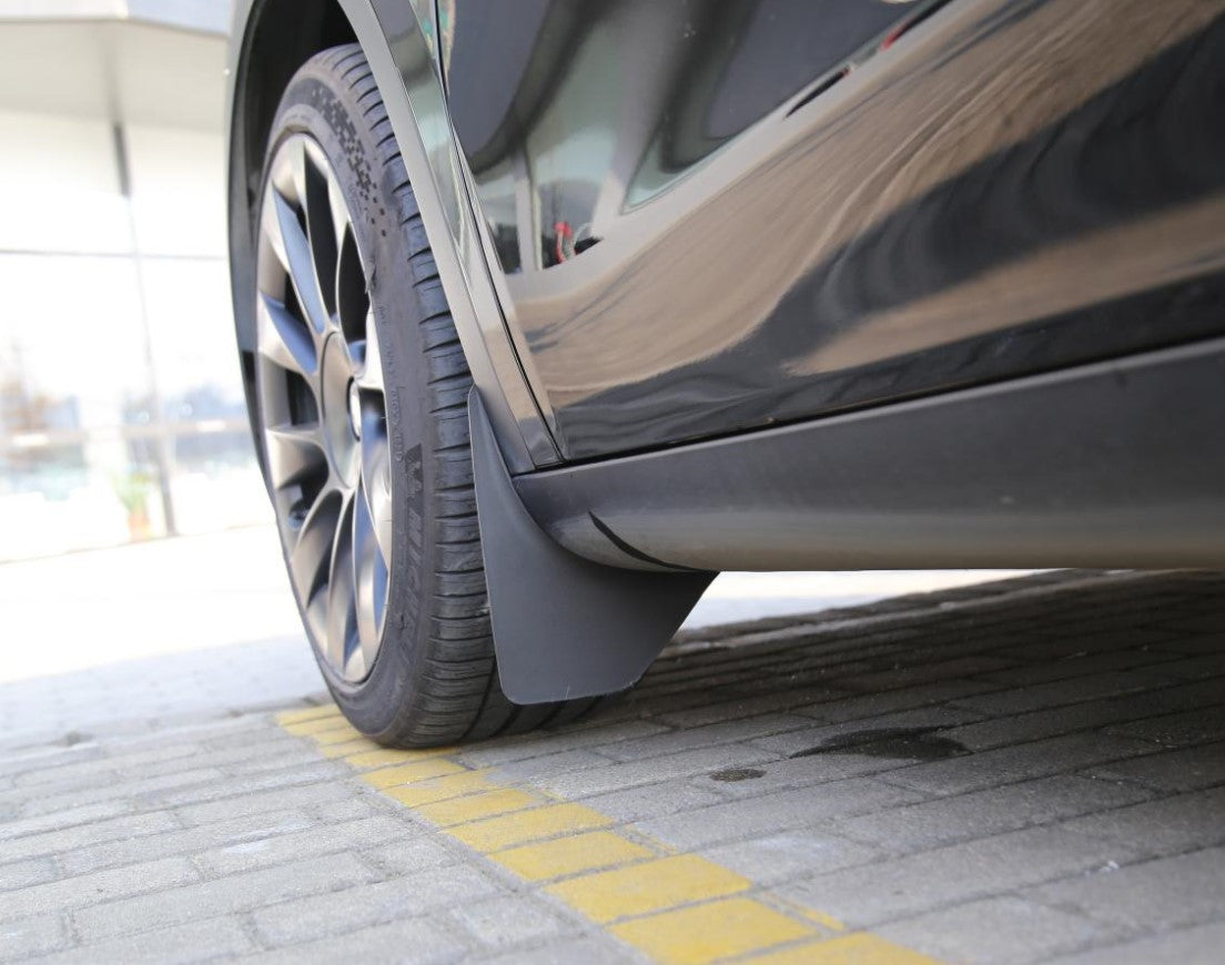
[(289, 577), (327, 664), (356, 682), (382, 643), (391, 571), (387, 402), (365, 260), (318, 143), (268, 169), (256, 261), (260, 420)]

